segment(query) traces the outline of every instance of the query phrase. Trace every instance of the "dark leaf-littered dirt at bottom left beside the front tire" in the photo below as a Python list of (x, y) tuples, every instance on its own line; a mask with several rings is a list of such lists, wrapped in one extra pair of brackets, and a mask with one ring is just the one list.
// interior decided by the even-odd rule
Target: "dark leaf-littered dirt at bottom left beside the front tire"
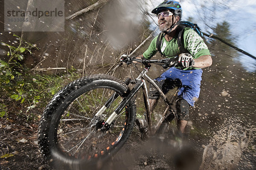
[(0, 118), (0, 156), (7, 154), (0, 158), (1, 170), (49, 169), (38, 150), (38, 121), (29, 123), (18, 115)]

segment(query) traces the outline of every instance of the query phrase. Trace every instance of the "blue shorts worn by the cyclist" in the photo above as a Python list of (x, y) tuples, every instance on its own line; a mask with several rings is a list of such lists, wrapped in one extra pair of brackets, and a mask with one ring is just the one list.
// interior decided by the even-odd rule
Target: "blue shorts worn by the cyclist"
[(202, 73), (202, 69), (180, 70), (172, 67), (155, 80), (160, 82), (165, 79), (180, 79), (182, 87), (178, 92), (178, 97), (183, 98), (191, 106), (194, 106), (195, 100), (198, 99), (200, 93)]

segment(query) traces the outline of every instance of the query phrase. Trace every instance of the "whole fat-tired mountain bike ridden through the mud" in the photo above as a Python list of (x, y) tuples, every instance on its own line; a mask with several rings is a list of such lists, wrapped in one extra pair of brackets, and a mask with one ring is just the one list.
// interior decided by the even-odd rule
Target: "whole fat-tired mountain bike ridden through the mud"
[[(145, 60), (123, 55), (122, 63), (142, 63), (144, 68), (135, 80), (121, 81), (110, 75), (90, 75), (79, 78), (61, 89), (47, 105), (38, 127), (38, 145), (45, 158), (58, 159), (69, 166), (105, 160), (128, 140), (136, 118), (135, 97), (142, 89), (148, 134), (154, 136), (167, 118), (177, 122), (173, 105), (177, 91), (169, 100), (157, 84), (148, 77), (150, 63), (167, 68), (177, 65), (177, 59)], [(160, 93), (167, 107), (156, 125), (152, 126), (149, 107), (149, 82)], [(128, 86), (132, 86), (131, 89)]]

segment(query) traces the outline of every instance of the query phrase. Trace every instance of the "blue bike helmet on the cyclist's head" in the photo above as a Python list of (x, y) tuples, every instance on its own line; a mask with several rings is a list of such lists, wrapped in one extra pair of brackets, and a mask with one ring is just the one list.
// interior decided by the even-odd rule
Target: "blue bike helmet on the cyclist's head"
[(169, 9), (175, 15), (179, 15), (181, 18), (182, 9), (180, 3), (175, 0), (165, 0), (163, 3), (160, 3), (159, 6), (152, 10), (153, 14), (158, 14), (163, 9)]

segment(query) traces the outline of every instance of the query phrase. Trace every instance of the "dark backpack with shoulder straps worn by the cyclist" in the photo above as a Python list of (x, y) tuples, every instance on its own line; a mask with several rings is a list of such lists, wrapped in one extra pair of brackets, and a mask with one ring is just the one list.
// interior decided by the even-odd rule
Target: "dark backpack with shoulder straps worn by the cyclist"
[[(196, 23), (190, 23), (189, 21), (180, 21), (179, 26), (177, 26), (176, 34), (178, 35), (177, 43), (181, 53), (188, 52), (188, 50), (185, 49), (184, 47), (184, 40), (183, 40), (184, 28), (186, 27), (193, 29), (196, 33), (198, 33), (198, 35), (203, 37), (203, 33), (201, 32), (200, 28), (197, 26)], [(162, 57), (164, 57), (163, 53), (161, 52), (161, 44), (163, 42), (163, 36), (164, 36), (164, 33), (161, 32), (157, 37), (157, 51), (161, 54)]]

